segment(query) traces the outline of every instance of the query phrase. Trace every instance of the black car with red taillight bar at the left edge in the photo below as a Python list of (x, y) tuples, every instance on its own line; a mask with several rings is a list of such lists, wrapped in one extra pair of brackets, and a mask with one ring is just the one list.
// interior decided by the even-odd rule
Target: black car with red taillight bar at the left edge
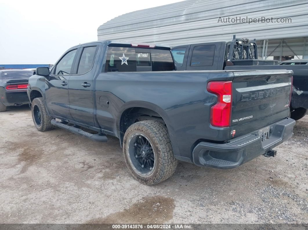
[(0, 112), (7, 106), (29, 104), (27, 96), (28, 79), (34, 74), (32, 70), (0, 70)]

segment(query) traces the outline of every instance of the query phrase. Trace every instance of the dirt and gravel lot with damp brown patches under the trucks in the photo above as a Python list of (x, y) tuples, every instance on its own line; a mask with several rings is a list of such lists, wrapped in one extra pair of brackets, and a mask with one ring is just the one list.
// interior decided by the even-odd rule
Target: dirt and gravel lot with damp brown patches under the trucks
[(116, 138), (39, 132), (28, 107), (0, 118), (0, 223), (308, 223), (308, 115), (275, 158), (183, 162), (156, 186), (129, 175)]

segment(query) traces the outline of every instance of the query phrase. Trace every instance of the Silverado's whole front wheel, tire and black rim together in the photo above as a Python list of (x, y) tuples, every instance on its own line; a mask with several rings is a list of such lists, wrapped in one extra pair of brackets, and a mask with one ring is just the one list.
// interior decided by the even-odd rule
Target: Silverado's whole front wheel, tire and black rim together
[(51, 117), (47, 115), (42, 97), (34, 98), (31, 106), (31, 113), (34, 125), (38, 131), (47, 131), (54, 128), (51, 124)]

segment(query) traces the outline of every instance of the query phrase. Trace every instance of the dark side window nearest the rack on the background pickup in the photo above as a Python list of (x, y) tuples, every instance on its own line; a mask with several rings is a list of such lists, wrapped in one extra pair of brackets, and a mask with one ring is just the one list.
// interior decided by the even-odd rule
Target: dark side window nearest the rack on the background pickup
[(214, 61), (215, 45), (195, 46), (190, 66), (212, 66)]

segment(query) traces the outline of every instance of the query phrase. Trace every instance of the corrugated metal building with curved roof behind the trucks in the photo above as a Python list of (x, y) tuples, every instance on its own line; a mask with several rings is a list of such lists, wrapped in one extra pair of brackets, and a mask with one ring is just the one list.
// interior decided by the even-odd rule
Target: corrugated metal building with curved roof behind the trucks
[[(237, 21), (234, 21), (236, 17)], [(247, 21), (260, 18), (261, 21), (262, 17), (273, 18), (273, 22), (249, 24), (240, 21), (243, 18)], [(291, 18), (292, 22), (286, 18)], [(175, 46), (230, 41), (236, 34), (237, 37), (256, 38), (261, 49), (261, 52), (258, 50), (259, 55), (264, 46), (264, 49), (267, 47), (266, 56), (298, 55), (308, 58), (307, 18), (307, 0), (187, 0), (111, 19), (99, 26), (98, 40)], [(286, 22), (278, 23), (277, 19)], [(229, 22), (221, 23), (223, 20)]]

